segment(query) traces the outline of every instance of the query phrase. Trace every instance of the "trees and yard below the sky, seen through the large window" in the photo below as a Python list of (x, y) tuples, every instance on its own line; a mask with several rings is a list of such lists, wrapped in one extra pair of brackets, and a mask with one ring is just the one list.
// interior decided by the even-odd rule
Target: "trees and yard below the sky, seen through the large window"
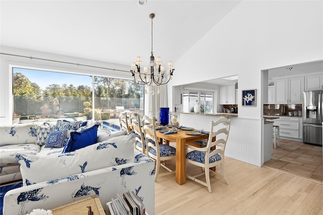
[[(73, 83), (73, 80), (68, 82)], [(124, 106), (125, 109), (143, 107), (142, 86), (129, 80), (103, 77), (94, 77), (94, 105), (89, 86), (51, 84), (41, 90), (37, 83), (32, 83), (22, 73), (13, 73), (13, 94), (14, 113), (21, 115), (21, 119), (58, 118), (69, 113), (79, 113), (79, 116), (91, 119), (93, 110), (97, 118), (97, 113), (110, 113), (116, 106)]]

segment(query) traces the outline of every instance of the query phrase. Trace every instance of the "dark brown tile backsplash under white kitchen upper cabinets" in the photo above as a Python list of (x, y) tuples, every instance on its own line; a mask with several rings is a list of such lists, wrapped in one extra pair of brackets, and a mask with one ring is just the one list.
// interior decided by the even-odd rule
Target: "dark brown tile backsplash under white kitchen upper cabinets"
[(267, 104), (263, 105), (263, 115), (301, 116), (301, 104)]

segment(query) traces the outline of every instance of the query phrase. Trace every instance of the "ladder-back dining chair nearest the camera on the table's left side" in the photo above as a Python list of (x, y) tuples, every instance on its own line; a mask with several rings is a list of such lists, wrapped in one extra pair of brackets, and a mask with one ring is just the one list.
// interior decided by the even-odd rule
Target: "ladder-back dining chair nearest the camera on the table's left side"
[(175, 172), (165, 166), (165, 161), (176, 159), (176, 149), (166, 144), (159, 144), (156, 135), (155, 117), (149, 118), (144, 115), (142, 117), (143, 132), (147, 142), (147, 155), (154, 159), (155, 166), (155, 181), (158, 177), (159, 168), (164, 167), (169, 172)]

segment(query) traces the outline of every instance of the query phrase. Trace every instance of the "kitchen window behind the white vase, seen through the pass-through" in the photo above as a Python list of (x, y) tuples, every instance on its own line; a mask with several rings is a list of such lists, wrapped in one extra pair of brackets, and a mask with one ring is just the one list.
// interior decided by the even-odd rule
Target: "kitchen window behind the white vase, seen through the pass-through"
[(213, 113), (213, 92), (199, 92), (184, 90), (183, 93), (183, 111), (185, 113), (194, 113), (194, 105), (199, 103), (201, 106), (201, 113)]

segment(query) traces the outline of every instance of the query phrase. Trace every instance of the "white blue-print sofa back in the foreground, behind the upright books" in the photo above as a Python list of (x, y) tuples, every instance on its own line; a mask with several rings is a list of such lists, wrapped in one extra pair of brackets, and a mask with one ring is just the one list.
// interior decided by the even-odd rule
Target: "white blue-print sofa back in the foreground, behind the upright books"
[(35, 208), (51, 209), (91, 195), (104, 207), (117, 192), (134, 191), (154, 214), (154, 162), (135, 152), (135, 162), (41, 182), (10, 190), (4, 197), (4, 214), (26, 214)]

